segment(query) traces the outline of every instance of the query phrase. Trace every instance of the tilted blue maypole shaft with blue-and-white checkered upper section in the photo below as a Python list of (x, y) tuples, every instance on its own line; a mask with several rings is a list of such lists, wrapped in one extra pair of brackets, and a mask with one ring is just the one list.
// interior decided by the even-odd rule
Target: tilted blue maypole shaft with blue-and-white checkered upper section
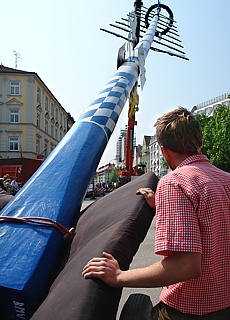
[[(134, 57), (119, 67), (1, 216), (46, 217), (67, 228), (79, 218), (87, 187), (138, 80), (139, 56), (147, 57), (157, 21), (155, 16), (134, 49)], [(49, 281), (62, 242), (62, 234), (53, 228), (0, 224), (0, 310), (13, 319), (29, 319)]]

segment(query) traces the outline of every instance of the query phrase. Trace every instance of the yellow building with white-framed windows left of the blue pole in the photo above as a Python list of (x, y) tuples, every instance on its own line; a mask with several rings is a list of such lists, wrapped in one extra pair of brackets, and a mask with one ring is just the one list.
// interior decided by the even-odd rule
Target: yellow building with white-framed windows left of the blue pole
[(0, 65), (0, 157), (47, 157), (73, 123), (35, 72)]

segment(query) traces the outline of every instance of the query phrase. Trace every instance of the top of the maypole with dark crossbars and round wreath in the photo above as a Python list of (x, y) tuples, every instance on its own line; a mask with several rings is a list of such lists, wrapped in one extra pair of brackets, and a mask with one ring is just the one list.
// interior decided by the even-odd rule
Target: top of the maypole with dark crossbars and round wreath
[(184, 47), (176, 28), (176, 21), (168, 6), (158, 1), (157, 4), (146, 8), (140, 0), (136, 0), (134, 6), (135, 11), (130, 12), (127, 18), (121, 18), (121, 21), (110, 24), (111, 27), (122, 31), (122, 34), (104, 28), (101, 30), (126, 40), (126, 43), (119, 49), (117, 67), (120, 67), (125, 61), (138, 60), (141, 88), (143, 89), (146, 80), (144, 64), (149, 50), (185, 60), (189, 59), (183, 51)]

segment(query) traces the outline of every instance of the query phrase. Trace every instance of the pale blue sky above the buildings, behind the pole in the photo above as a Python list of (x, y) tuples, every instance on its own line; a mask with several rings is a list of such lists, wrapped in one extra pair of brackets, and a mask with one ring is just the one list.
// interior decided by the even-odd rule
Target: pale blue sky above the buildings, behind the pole
[[(146, 7), (156, 2), (143, 0)], [(1, 4), (0, 63), (36, 72), (75, 120), (116, 71), (117, 51), (124, 41), (100, 31), (133, 10), (134, 0), (31, 0)], [(166, 0), (189, 61), (151, 51), (146, 84), (139, 89), (137, 143), (153, 135), (153, 125), (177, 106), (194, 105), (230, 91), (229, 0)], [(115, 30), (116, 31), (116, 30)], [(115, 158), (119, 118), (100, 165)]]

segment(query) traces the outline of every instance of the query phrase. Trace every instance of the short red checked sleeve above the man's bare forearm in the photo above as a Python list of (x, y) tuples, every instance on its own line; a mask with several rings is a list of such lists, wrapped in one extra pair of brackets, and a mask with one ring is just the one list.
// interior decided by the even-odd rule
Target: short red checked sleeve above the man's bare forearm
[(202, 253), (199, 219), (182, 185), (162, 179), (156, 192), (155, 253), (172, 251)]

